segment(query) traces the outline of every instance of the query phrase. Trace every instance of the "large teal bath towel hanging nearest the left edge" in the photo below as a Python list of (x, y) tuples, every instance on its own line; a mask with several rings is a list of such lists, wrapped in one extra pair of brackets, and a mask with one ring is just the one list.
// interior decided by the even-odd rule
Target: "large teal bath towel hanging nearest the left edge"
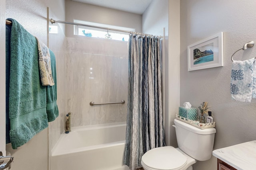
[(36, 38), (16, 20), (10, 43), (10, 141), (17, 149), (48, 127), (46, 86), (40, 84)]

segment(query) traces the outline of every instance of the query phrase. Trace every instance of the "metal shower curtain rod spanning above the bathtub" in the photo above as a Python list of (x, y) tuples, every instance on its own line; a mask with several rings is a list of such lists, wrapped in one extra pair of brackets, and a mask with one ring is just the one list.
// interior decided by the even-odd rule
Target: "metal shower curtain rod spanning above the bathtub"
[[(75, 22), (56, 21), (56, 20), (54, 20), (54, 19), (52, 19), (52, 18), (51, 18), (50, 21), (51, 21), (52, 24), (54, 24), (54, 23), (67, 23), (67, 24), (71, 24), (71, 25), (80, 25), (80, 26), (93, 27), (93, 28), (100, 28), (100, 29), (107, 29), (107, 30), (125, 32), (125, 33), (136, 33), (136, 34), (139, 34), (139, 35), (145, 35), (145, 36), (152, 36), (152, 37), (153, 37), (153, 35), (144, 34), (144, 33), (137, 33), (137, 32), (125, 31), (125, 30), (121, 30), (121, 29), (108, 28), (108, 27), (99, 27), (99, 26), (87, 25), (87, 24), (75, 23)], [(155, 36), (155, 37), (161, 37), (161, 36)]]

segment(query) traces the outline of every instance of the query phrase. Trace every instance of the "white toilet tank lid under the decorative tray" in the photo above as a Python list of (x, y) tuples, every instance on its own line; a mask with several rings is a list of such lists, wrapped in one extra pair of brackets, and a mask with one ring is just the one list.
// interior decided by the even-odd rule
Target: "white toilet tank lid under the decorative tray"
[(194, 132), (194, 133), (197, 133), (197, 134), (201, 134), (201, 135), (209, 135), (209, 134), (212, 134), (212, 133), (216, 133), (216, 129), (211, 127), (211, 128), (207, 128), (207, 129), (199, 129), (197, 127), (194, 127), (188, 123), (185, 123), (183, 121), (180, 121), (178, 119), (174, 119), (174, 124), (176, 126), (179, 127), (182, 127), (184, 129), (187, 129), (188, 131), (191, 131), (191, 132)]

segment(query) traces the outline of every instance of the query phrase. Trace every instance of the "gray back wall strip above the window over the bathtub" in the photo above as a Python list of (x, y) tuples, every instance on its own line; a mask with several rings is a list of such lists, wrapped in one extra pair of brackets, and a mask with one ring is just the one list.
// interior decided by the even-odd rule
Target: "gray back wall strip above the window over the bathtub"
[[(66, 0), (66, 21), (74, 20), (133, 28), (136, 32), (142, 30), (142, 16), (139, 14)], [(74, 26), (67, 24), (66, 37), (73, 35)]]

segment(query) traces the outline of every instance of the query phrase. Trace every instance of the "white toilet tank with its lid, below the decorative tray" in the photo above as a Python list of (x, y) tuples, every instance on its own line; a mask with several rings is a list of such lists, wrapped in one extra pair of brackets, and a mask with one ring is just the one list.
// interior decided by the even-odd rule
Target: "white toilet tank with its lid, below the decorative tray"
[(178, 147), (183, 152), (200, 161), (211, 158), (215, 128), (199, 129), (177, 119), (174, 124)]

